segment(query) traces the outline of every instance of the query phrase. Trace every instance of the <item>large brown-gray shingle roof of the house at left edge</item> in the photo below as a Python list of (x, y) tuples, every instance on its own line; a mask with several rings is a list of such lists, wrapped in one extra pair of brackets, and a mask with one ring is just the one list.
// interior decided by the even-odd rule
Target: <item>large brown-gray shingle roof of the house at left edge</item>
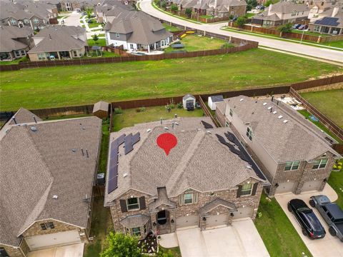
[(0, 141), (0, 243), (18, 246), (45, 218), (86, 227), (100, 138), (96, 117), (11, 126)]

